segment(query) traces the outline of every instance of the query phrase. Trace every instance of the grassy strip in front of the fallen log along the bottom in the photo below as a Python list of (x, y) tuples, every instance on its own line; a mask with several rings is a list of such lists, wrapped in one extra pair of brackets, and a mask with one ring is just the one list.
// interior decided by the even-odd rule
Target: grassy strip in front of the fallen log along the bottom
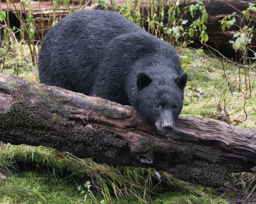
[(168, 173), (159, 172), (159, 183), (152, 169), (113, 168), (47, 147), (2, 144), (0, 166), (0, 203), (225, 203)]

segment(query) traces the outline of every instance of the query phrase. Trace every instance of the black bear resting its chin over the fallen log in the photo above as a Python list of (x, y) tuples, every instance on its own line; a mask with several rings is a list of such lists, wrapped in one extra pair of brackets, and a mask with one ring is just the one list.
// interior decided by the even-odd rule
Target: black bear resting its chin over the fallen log
[(132, 105), (161, 133), (182, 110), (188, 80), (175, 48), (113, 11), (78, 11), (44, 36), (40, 82)]

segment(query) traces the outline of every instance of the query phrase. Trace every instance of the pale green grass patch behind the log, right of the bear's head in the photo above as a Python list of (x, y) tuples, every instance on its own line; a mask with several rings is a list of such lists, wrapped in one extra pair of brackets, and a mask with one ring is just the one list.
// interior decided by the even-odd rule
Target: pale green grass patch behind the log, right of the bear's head
[[(252, 96), (244, 104), (245, 85), (241, 85), (243, 92), (239, 92), (237, 66), (225, 61), (222, 64), (220, 59), (209, 55), (198, 56), (193, 50), (188, 52), (193, 53), (194, 59), (188, 64), (189, 79), (181, 115), (215, 118), (228, 113), (232, 124), (238, 122), (244, 128), (256, 128), (256, 84), (252, 86)], [(252, 82), (253, 79), (255, 73), (251, 75)]]

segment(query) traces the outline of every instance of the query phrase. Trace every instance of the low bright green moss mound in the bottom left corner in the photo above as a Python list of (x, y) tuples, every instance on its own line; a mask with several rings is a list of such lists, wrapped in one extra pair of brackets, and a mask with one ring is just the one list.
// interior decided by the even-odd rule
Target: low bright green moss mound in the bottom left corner
[[(0, 181), (0, 200), (8, 197), (17, 203), (82, 203), (83, 194), (67, 179), (56, 179), (44, 172), (16, 173), (7, 181)], [(93, 203), (88, 196), (86, 203)]]

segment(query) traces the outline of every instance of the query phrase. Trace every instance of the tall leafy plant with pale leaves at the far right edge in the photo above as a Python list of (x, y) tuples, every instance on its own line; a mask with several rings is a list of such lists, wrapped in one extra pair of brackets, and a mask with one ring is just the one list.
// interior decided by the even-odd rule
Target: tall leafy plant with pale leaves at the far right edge
[[(251, 43), (253, 37), (253, 29), (251, 26), (252, 21), (256, 21), (254, 15), (250, 14), (250, 11), (256, 11), (256, 4), (250, 3), (247, 10), (241, 11), (240, 13), (234, 12), (231, 15), (227, 15), (221, 21), (221, 29), (225, 31), (232, 27), (236, 27), (238, 31), (234, 34), (234, 40), (230, 40), (233, 49), (239, 55), (239, 66), (238, 66), (238, 75), (239, 75), (239, 92), (244, 96), (244, 106), (246, 102), (250, 102), (252, 97), (252, 91), (254, 89), (254, 80), (251, 82), (250, 73), (255, 71), (255, 61), (256, 53), (252, 50)], [(254, 54), (254, 57), (248, 57), (249, 52)], [(243, 71), (241, 70), (243, 69)], [(242, 82), (244, 81), (244, 83)], [(243, 85), (244, 84), (244, 85)], [(253, 110), (255, 111), (254, 106), (252, 105)], [(255, 111), (256, 112), (256, 111)], [(247, 113), (244, 109), (245, 119), (247, 119)]]

